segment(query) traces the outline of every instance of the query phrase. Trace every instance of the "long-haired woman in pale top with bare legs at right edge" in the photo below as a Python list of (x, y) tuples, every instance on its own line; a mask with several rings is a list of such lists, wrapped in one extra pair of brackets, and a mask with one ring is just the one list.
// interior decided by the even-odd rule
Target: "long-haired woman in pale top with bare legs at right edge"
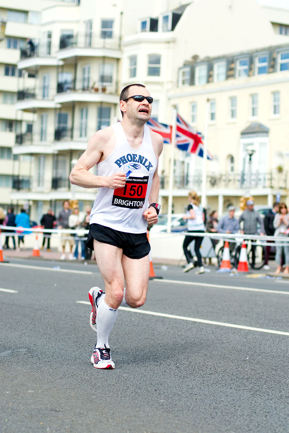
[[(287, 239), (288, 235), (285, 234), (286, 229), (289, 227), (289, 213), (287, 210), (286, 203), (280, 203), (279, 204), (279, 211), (275, 214), (274, 220), (273, 220), (273, 226), (275, 228), (274, 236), (280, 237), (280, 236), (286, 236)], [(281, 272), (281, 257), (282, 253), (284, 252), (285, 256), (285, 269), (284, 274), (289, 274), (289, 245), (288, 243), (284, 243), (284, 246), (276, 245), (276, 264), (277, 269), (275, 271), (275, 274), (279, 274)]]

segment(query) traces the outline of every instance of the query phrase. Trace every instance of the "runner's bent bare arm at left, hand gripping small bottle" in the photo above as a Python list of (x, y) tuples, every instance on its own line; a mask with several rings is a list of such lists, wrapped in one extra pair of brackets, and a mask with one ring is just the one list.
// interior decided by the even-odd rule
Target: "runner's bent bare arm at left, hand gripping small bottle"
[(103, 155), (103, 149), (110, 139), (109, 131), (100, 130), (89, 139), (87, 149), (81, 155), (73, 167), (69, 180), (72, 184), (84, 188), (123, 188), (126, 175), (123, 172), (114, 173), (111, 176), (97, 176), (90, 173), (89, 169), (97, 164)]

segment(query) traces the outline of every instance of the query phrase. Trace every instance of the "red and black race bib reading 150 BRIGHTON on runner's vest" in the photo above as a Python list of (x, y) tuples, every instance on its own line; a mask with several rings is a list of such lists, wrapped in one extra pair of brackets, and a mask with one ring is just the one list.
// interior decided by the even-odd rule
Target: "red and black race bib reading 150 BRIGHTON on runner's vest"
[(148, 181), (149, 176), (128, 178), (124, 188), (114, 190), (111, 204), (129, 209), (140, 209), (140, 207), (143, 207), (146, 199)]

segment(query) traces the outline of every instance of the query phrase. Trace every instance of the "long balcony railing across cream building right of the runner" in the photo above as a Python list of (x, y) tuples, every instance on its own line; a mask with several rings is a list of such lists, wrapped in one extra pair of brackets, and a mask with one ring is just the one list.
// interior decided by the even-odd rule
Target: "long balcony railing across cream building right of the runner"
[[(286, 189), (288, 185), (288, 173), (274, 173), (273, 171), (267, 173), (219, 173), (219, 174), (208, 174), (206, 176), (206, 190), (233, 190), (233, 189), (244, 189), (246, 187), (250, 189), (262, 190), (262, 189)], [(160, 177), (160, 188), (169, 188), (169, 177)], [(202, 176), (200, 174), (186, 175), (186, 176), (175, 176), (173, 188), (175, 190), (186, 189), (186, 190), (197, 190), (200, 191), (202, 188)]]

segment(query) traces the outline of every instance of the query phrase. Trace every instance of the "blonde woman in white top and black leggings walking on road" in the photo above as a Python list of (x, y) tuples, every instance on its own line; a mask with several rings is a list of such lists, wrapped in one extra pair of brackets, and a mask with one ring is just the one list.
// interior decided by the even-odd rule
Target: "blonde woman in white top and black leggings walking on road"
[[(196, 191), (190, 191), (188, 194), (188, 198), (190, 204), (187, 207), (187, 213), (183, 216), (184, 220), (187, 220), (187, 228), (188, 233), (204, 233), (205, 232), (205, 224), (204, 224), (204, 212), (203, 207), (200, 206), (200, 197), (197, 195)], [(204, 268), (202, 265), (202, 256), (200, 253), (200, 246), (203, 238), (201, 236), (185, 236), (183, 249), (184, 255), (187, 259), (187, 265), (184, 268), (184, 272), (189, 271), (194, 268), (193, 256), (191, 255), (191, 251), (188, 249), (188, 246), (192, 241), (195, 241), (195, 253), (198, 260), (199, 270), (196, 274), (203, 274)]]

